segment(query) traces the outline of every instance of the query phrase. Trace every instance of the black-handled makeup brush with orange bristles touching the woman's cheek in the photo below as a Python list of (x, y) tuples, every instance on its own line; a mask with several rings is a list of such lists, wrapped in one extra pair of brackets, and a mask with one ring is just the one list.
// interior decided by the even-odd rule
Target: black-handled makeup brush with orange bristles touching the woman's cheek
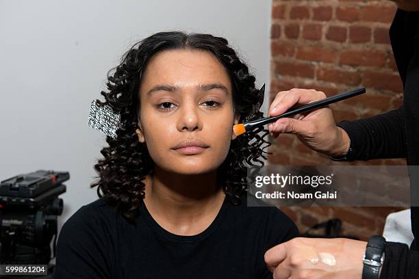
[(268, 124), (270, 122), (275, 122), (279, 118), (285, 118), (285, 117), (293, 116), (295, 114), (300, 114), (301, 112), (310, 111), (312, 109), (317, 109), (319, 107), (325, 107), (326, 105), (329, 105), (331, 103), (336, 103), (338, 101), (342, 101), (346, 98), (351, 98), (353, 96), (357, 96), (365, 92), (366, 92), (365, 88), (357, 88), (355, 90), (338, 94), (335, 96), (331, 96), (329, 98), (324, 98), (322, 100), (309, 103), (307, 105), (302, 105), (301, 107), (289, 109), (288, 111), (284, 112), (283, 114), (280, 114), (279, 116), (266, 117), (266, 118), (261, 118), (258, 120), (253, 120), (253, 121), (249, 121), (242, 124), (236, 124), (233, 126), (233, 132), (236, 135), (242, 135), (243, 133), (246, 133), (246, 131), (251, 131), (257, 127), (261, 127), (264, 124)]

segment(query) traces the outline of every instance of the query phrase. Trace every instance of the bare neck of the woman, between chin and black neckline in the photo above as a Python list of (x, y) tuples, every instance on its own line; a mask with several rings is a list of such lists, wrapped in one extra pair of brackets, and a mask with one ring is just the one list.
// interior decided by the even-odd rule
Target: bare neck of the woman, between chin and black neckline
[(214, 221), (224, 198), (216, 171), (183, 175), (155, 168), (153, 176), (147, 176), (144, 203), (170, 233), (196, 235)]

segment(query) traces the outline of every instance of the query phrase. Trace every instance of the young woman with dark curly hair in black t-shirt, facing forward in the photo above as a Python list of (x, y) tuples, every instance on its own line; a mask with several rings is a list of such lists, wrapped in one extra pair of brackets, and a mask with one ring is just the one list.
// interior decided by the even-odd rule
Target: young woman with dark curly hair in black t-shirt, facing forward
[(99, 199), (62, 227), (55, 278), (272, 278), (264, 253), (298, 230), (275, 207), (247, 206), (259, 201), (246, 170), (270, 144), (264, 129), (233, 134), (262, 117), (263, 92), (227, 40), (154, 34), (107, 88), (120, 129), (95, 165)]

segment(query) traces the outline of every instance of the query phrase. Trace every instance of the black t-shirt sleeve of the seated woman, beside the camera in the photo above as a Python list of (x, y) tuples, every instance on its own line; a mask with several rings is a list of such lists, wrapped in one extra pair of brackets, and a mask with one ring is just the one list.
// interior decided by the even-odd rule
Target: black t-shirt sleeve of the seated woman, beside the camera
[(108, 239), (98, 217), (81, 207), (61, 228), (53, 278), (111, 278)]

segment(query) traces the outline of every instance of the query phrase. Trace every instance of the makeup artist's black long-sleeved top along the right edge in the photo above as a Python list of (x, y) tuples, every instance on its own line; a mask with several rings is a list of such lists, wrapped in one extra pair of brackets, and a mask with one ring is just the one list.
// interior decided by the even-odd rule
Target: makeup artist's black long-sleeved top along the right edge
[[(397, 10), (390, 39), (403, 81), (403, 106), (379, 116), (340, 122), (351, 138), (355, 159), (405, 157), (419, 165), (419, 12)], [(409, 168), (411, 200), (419, 200), (419, 174)], [(411, 207), (415, 240), (410, 250), (402, 243), (385, 246), (380, 278), (419, 278), (419, 208)]]

